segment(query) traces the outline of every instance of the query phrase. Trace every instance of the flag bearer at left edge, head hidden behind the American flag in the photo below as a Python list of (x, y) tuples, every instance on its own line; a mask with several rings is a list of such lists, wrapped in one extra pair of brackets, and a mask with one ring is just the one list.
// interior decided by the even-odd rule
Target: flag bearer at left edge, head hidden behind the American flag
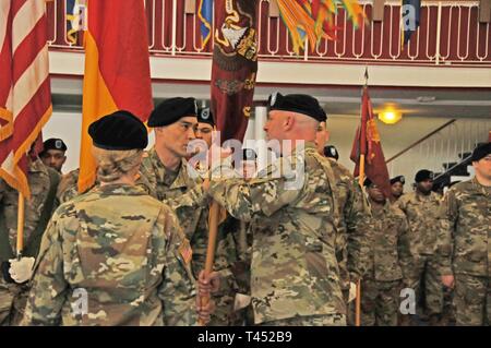
[[(31, 199), (25, 199), (24, 256), (36, 257), (40, 239), (51, 217), (59, 173), (29, 157), (27, 180)], [(23, 316), (28, 284), (16, 284), (9, 275), (9, 260), (14, 257), (17, 235), (19, 193), (0, 180), (0, 325), (17, 325)]]

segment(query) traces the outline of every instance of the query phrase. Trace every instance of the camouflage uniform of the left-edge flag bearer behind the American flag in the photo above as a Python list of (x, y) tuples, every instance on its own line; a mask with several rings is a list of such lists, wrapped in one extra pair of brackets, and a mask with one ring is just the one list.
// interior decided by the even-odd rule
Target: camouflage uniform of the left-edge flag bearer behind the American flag
[[(39, 158), (29, 164), (27, 180), (31, 200), (26, 199), (24, 203), (24, 248), (29, 245), (31, 235), (36, 230), (41, 217), (51, 183), (50, 172), (51, 176), (59, 176), (56, 170), (45, 166)], [(17, 191), (0, 180), (0, 209), (3, 209), (13, 253), (16, 248), (17, 205)], [(28, 291), (27, 284), (7, 283), (0, 275), (0, 325), (17, 325), (20, 323)]]

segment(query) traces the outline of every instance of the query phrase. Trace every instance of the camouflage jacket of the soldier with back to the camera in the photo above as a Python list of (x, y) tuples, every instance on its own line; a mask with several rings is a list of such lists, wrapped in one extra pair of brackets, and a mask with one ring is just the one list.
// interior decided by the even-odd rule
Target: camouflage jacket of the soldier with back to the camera
[(136, 187), (97, 187), (55, 213), (22, 324), (193, 325), (190, 262), (168, 206)]

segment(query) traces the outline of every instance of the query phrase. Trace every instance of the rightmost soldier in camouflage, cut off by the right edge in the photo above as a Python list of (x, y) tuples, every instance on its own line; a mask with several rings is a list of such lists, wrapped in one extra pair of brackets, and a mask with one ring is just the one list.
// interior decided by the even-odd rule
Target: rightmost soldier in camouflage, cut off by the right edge
[(445, 195), (439, 249), (442, 281), (454, 287), (457, 325), (491, 324), (491, 143), (472, 153), (475, 178)]

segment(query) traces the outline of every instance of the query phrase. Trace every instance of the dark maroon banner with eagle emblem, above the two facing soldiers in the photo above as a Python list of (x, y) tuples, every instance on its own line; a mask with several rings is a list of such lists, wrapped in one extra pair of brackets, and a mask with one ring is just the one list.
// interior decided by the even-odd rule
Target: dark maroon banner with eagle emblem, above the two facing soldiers
[(215, 1), (212, 110), (221, 142), (243, 140), (258, 73), (256, 0)]

